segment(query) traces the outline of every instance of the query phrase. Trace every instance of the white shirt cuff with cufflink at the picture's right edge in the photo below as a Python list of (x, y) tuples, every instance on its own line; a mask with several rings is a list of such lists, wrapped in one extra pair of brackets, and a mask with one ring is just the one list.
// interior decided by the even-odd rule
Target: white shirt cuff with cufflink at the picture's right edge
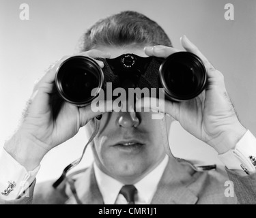
[(244, 170), (245, 172), (253, 173), (256, 168), (250, 157), (256, 157), (256, 138), (249, 130), (236, 144), (235, 149), (218, 155), (218, 158), (229, 170)]

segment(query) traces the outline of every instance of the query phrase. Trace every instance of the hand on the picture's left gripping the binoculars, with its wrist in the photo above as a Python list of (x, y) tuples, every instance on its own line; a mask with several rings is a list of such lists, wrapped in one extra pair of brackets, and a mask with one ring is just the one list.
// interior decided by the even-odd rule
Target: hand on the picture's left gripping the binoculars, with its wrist
[[(86, 57), (110, 58), (108, 52), (89, 50), (79, 55)], [(93, 112), (91, 105), (79, 108), (63, 102), (53, 116), (51, 95), (55, 92), (55, 74), (59, 65), (69, 57), (57, 61), (42, 79), (35, 84), (18, 130), (5, 142), (4, 149), (25, 168), (33, 170), (48, 151), (77, 134), (90, 119), (103, 112)], [(98, 61), (100, 67), (103, 63)]]

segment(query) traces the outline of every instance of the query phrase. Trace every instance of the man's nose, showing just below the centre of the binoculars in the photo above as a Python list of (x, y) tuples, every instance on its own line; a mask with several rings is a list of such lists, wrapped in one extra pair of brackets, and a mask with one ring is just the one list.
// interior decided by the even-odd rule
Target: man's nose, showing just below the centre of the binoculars
[(120, 127), (130, 128), (139, 126), (139, 118), (137, 117), (136, 112), (120, 112), (120, 115), (117, 119), (117, 123)]

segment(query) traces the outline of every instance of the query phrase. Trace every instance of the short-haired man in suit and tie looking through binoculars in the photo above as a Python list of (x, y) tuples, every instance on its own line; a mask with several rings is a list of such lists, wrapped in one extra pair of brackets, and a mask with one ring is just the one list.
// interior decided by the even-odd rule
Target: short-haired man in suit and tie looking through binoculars
[[(58, 61), (35, 85), (24, 119), (0, 156), (0, 202), (3, 204), (237, 204), (256, 203), (253, 157), (256, 140), (238, 121), (225, 89), (223, 74), (214, 69), (186, 36), (188, 52), (200, 57), (208, 72), (208, 86), (186, 102), (165, 100), (164, 119), (158, 112), (138, 112), (150, 99), (138, 100), (126, 112), (93, 112), (64, 102), (53, 116), (51, 94)], [(122, 12), (97, 22), (85, 35), (81, 53), (91, 58), (115, 58), (133, 53), (162, 57), (178, 52), (156, 22), (137, 12)], [(103, 63), (98, 61), (100, 67)], [(163, 101), (163, 100), (159, 100)], [(156, 108), (152, 108), (156, 109)], [(91, 143), (93, 166), (68, 176), (56, 189), (53, 182), (36, 185), (40, 161), (55, 146), (72, 138), (80, 127), (93, 133), (91, 119), (102, 115), (100, 129)], [(212, 146), (225, 163), (227, 174), (217, 168), (197, 171), (169, 154), (167, 132), (173, 119), (186, 131)], [(166, 124), (167, 123), (167, 127)], [(242, 167), (241, 167), (242, 166)], [(225, 197), (225, 182), (233, 181), (236, 196)], [(8, 186), (8, 181), (10, 181)], [(22, 187), (20, 189), (19, 187)], [(8, 187), (8, 189), (6, 189)], [(24, 190), (29, 190), (29, 196)], [(130, 195), (131, 194), (131, 195)]]

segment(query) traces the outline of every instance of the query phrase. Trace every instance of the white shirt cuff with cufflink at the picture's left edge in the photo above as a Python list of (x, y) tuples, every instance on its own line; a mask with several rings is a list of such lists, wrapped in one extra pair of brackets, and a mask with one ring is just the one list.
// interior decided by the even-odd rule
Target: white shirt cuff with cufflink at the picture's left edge
[[(15, 200), (19, 196), (23, 196), (35, 180), (39, 169), (40, 166), (27, 172), (26, 168), (20, 165), (5, 149), (0, 148), (0, 199)], [(4, 195), (3, 192), (10, 185), (8, 182), (15, 183), (15, 186), (8, 195)]]

